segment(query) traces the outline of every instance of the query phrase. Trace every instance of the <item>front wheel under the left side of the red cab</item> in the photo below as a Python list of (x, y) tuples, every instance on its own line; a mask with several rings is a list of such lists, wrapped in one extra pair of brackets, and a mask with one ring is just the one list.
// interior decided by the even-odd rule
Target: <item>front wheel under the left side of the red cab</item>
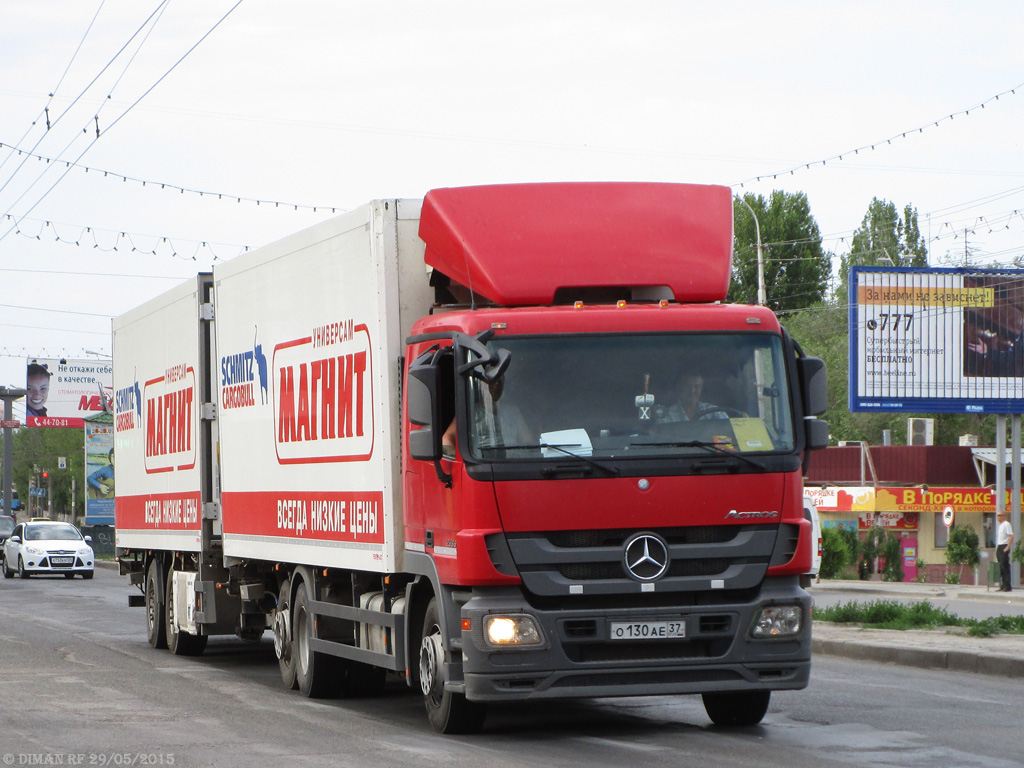
[(486, 707), (444, 689), (444, 635), (436, 597), (427, 605), (420, 638), (420, 689), (430, 724), (440, 733), (476, 733), (483, 727)]

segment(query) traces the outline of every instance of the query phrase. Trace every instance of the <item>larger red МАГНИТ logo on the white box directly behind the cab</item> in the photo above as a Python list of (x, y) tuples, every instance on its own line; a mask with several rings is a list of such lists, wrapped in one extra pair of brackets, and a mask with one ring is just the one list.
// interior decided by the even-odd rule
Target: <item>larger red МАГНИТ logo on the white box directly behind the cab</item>
[(274, 435), (282, 464), (366, 461), (374, 449), (370, 331), (318, 326), (273, 349)]

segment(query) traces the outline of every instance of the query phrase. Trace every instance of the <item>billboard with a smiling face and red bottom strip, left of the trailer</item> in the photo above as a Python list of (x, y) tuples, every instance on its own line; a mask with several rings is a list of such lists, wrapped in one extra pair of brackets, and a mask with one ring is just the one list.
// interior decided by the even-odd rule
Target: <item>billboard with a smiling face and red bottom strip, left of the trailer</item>
[(30, 357), (25, 380), (27, 426), (82, 427), (113, 394), (114, 366), (110, 359)]

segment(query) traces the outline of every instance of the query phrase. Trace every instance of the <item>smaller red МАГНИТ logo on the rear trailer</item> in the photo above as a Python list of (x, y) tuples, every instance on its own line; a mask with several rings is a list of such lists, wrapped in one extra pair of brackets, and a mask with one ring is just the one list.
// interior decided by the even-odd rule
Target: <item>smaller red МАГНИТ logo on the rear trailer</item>
[(196, 371), (179, 364), (145, 383), (142, 392), (145, 471), (171, 472), (196, 466)]

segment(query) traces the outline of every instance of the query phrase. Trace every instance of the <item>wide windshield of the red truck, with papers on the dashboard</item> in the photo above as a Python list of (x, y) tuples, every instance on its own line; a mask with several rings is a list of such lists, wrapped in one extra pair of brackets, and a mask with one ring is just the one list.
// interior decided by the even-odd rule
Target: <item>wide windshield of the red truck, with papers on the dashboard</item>
[(500, 337), (494, 383), (469, 383), (481, 461), (786, 453), (782, 342), (771, 334)]

